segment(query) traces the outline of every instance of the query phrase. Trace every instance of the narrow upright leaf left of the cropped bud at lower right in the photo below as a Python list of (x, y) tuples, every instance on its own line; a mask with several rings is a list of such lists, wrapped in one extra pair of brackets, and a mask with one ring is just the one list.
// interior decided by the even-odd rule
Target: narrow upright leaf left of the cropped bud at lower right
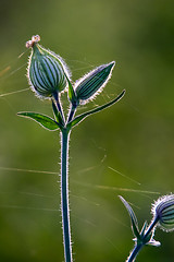
[(119, 198), (121, 199), (121, 201), (123, 202), (123, 204), (125, 205), (125, 207), (129, 214), (133, 234), (135, 235), (135, 237), (137, 239), (141, 240), (141, 237), (139, 235), (139, 229), (138, 229), (138, 221), (137, 221), (137, 217), (136, 217), (132, 206), (127, 203), (127, 201), (123, 196), (119, 195)]

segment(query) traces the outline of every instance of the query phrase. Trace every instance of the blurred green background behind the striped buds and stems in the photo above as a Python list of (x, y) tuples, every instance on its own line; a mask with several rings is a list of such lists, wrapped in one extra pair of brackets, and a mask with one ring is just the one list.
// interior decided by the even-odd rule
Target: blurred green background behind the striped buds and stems
[[(65, 59), (73, 80), (116, 61), (102, 95), (78, 110), (126, 88), (72, 132), (70, 203), (75, 261), (124, 261), (133, 236), (117, 195), (141, 226), (153, 200), (174, 188), (174, 1), (1, 0), (0, 32), (0, 261), (63, 261), (60, 138), (16, 116), (52, 115), (30, 90), (15, 93), (28, 87), (25, 41), (34, 34)], [(174, 234), (157, 230), (156, 240), (162, 246), (145, 248), (139, 262), (173, 261)]]

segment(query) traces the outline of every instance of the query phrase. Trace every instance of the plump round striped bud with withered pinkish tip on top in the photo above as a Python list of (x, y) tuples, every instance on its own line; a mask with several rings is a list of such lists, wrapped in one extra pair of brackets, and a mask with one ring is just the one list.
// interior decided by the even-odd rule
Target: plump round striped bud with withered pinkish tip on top
[(38, 96), (49, 98), (66, 87), (66, 76), (70, 75), (62, 58), (38, 45), (39, 40), (40, 37), (36, 35), (26, 43), (26, 47), (32, 48), (27, 78), (32, 90)]

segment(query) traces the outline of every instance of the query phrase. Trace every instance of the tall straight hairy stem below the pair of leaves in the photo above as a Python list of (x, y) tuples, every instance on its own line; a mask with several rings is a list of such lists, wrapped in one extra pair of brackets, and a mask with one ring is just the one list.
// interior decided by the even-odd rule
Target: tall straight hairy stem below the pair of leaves
[(72, 262), (70, 209), (69, 209), (69, 140), (70, 132), (65, 129), (61, 133), (61, 210), (63, 226), (63, 243), (65, 262)]

